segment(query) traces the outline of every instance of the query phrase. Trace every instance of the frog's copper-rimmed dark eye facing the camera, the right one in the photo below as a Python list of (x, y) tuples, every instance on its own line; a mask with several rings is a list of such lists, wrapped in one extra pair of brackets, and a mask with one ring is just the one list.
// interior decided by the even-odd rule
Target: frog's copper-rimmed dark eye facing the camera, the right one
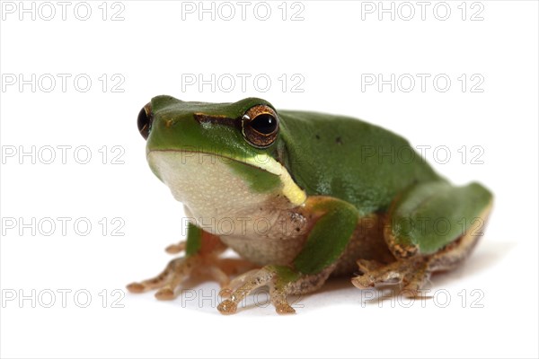
[(270, 106), (256, 105), (243, 115), (243, 137), (255, 147), (264, 148), (273, 144), (278, 134), (278, 117)]

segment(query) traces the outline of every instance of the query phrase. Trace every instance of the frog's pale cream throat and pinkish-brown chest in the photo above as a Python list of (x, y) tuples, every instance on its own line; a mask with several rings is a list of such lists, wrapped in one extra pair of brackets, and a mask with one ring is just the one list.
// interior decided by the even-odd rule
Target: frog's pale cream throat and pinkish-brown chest
[(148, 153), (152, 169), (183, 203), (191, 223), (254, 263), (290, 263), (305, 242), (305, 218), (282, 188), (253, 191), (229, 161), (208, 153)]

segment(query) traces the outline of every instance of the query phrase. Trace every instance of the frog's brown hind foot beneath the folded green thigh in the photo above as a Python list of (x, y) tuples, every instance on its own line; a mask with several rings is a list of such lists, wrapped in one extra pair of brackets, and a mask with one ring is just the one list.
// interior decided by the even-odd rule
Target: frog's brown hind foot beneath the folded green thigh
[(427, 257), (399, 259), (388, 265), (359, 259), (358, 267), (362, 275), (352, 278), (352, 284), (359, 289), (378, 284), (401, 283), (401, 293), (407, 297), (417, 297), (432, 273)]

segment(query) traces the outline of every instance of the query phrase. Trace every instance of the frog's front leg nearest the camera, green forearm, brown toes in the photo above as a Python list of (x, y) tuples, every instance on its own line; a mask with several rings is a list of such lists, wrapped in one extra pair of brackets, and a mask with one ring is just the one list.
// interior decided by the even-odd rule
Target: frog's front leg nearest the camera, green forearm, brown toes
[(279, 314), (294, 313), (287, 295), (311, 293), (320, 288), (335, 268), (358, 224), (358, 211), (333, 197), (309, 197), (300, 212), (310, 223), (303, 249), (290, 266), (265, 266), (238, 276), (221, 291), (229, 298), (218, 306), (232, 314), (249, 293), (264, 285)]

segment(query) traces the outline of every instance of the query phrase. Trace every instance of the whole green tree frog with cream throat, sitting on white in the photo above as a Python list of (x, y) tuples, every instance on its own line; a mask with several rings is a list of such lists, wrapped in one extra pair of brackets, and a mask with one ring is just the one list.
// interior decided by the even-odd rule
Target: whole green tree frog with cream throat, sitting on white
[(220, 285), (223, 314), (260, 287), (294, 313), (289, 298), (335, 276), (414, 298), (469, 257), (492, 207), (482, 184), (451, 184), (405, 138), (358, 118), (160, 95), (137, 127), (188, 218), (186, 239), (166, 249), (182, 255), (127, 286), (159, 300), (201, 274)]

